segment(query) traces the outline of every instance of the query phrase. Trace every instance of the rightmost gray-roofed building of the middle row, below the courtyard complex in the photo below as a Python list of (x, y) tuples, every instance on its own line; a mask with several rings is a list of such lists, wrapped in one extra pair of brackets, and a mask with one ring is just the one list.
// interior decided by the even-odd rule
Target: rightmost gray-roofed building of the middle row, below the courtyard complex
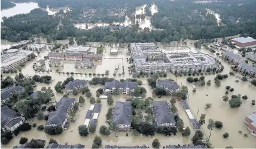
[(169, 92), (170, 95), (179, 91), (179, 85), (177, 82), (165, 79), (165, 80), (157, 80), (157, 87), (164, 89), (166, 92)]

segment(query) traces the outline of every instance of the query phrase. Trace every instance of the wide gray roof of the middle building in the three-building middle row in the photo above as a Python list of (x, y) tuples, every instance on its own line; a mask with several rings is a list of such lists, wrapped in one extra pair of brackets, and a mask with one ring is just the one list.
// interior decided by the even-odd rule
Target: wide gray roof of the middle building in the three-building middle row
[(129, 80), (125, 80), (124, 82), (119, 82), (118, 80), (112, 80), (111, 82), (105, 82), (105, 89), (112, 89), (112, 88), (129, 88), (135, 89), (138, 87), (137, 82), (130, 82)]

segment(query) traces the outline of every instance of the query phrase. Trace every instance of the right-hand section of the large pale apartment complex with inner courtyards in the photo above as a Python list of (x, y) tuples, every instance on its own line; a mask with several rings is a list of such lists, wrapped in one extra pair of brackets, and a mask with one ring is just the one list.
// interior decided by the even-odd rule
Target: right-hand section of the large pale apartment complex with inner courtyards
[(166, 63), (172, 73), (206, 72), (218, 70), (218, 63), (207, 54), (193, 52), (166, 52)]

